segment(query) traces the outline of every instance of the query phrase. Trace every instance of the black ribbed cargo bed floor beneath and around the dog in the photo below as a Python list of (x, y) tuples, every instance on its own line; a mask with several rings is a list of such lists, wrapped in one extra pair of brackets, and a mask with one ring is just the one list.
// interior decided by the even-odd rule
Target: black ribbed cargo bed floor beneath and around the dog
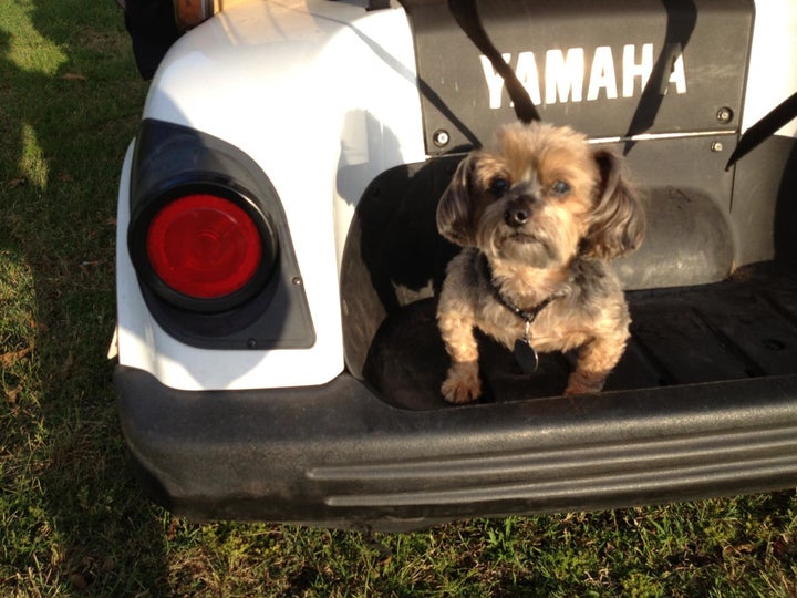
[[(632, 291), (632, 339), (605, 391), (695, 384), (797, 373), (797, 277), (767, 262), (745, 267), (715, 285)], [(482, 402), (561, 394), (572, 355), (540, 355), (524, 374), (511, 353), (479, 337)], [(424, 299), (380, 328), (364, 368), (366, 380), (396, 406), (447, 406), (439, 385), (448, 357)]]

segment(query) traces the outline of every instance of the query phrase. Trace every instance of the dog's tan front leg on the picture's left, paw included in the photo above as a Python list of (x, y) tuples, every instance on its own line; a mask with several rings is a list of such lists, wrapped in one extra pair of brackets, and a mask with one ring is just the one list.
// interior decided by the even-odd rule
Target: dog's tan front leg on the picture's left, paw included
[(437, 317), (443, 342), (452, 358), (441, 392), (449, 403), (475, 401), (482, 394), (478, 374), (478, 346), (474, 337), (474, 322), (458, 313), (439, 313)]

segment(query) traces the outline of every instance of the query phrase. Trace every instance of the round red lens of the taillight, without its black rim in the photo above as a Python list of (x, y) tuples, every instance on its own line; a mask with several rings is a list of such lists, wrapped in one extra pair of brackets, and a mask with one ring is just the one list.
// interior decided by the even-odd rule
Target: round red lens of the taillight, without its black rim
[(157, 277), (196, 299), (239, 291), (258, 272), (262, 239), (257, 225), (235, 203), (208, 194), (179, 197), (152, 219), (146, 252)]

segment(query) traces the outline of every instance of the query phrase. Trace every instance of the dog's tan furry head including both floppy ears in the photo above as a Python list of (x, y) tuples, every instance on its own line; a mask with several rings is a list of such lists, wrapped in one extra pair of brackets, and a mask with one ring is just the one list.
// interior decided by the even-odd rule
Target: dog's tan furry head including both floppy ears
[(635, 249), (644, 210), (620, 159), (569, 127), (514, 123), (494, 147), (459, 164), (437, 206), (437, 228), (490, 259), (553, 268), (575, 256)]

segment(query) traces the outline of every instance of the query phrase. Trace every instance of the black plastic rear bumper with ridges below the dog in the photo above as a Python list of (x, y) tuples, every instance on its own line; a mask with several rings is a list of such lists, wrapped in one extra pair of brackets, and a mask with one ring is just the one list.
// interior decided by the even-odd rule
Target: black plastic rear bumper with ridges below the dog
[(152, 497), (197, 519), (411, 529), (797, 485), (797, 377), (403, 411), (320, 388), (168, 389), (115, 372)]

